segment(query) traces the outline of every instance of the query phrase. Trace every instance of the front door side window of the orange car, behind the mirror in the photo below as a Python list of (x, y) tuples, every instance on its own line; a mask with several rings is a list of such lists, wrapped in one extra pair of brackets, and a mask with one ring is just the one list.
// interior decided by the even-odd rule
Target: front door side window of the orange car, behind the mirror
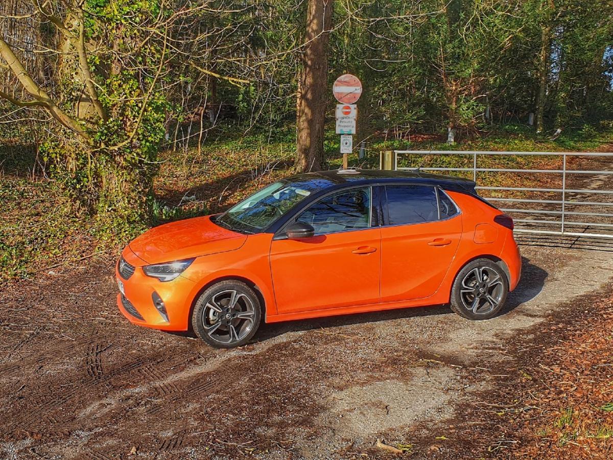
[(322, 198), (296, 220), (311, 224), (316, 234), (367, 228), (370, 202), (370, 187), (354, 188)]

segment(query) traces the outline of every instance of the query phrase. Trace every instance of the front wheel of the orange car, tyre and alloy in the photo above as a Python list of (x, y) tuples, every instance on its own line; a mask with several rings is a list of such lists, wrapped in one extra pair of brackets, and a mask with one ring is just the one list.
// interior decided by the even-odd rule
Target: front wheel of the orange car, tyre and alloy
[(211, 347), (234, 348), (251, 340), (261, 318), (262, 308), (253, 289), (226, 280), (200, 295), (191, 321), (196, 335)]

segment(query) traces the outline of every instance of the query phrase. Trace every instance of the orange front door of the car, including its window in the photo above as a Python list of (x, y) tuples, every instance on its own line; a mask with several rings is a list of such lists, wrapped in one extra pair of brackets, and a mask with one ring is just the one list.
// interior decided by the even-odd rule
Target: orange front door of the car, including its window
[[(278, 313), (379, 302), (381, 230), (370, 186), (322, 197), (292, 220), (315, 236), (273, 239), (270, 269)], [(282, 238), (282, 237), (281, 237)]]

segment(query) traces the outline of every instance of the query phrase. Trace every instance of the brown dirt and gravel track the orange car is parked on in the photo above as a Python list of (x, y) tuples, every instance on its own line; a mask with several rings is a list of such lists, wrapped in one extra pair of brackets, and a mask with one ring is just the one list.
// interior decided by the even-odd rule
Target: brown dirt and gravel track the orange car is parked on
[(613, 277), (613, 249), (523, 241), (522, 282), (493, 320), (428, 307), (297, 321), (232, 351), (129, 324), (111, 263), (10, 285), (0, 456), (354, 458), (379, 456), (377, 438), (434, 443), (436, 427), (495, 385), (467, 369), (504, 362), (506, 343)]

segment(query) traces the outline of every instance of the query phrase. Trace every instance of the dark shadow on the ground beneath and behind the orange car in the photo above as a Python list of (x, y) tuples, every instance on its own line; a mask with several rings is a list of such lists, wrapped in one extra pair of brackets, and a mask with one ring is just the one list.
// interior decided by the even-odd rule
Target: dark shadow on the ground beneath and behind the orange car
[[(505, 315), (516, 309), (519, 305), (536, 297), (541, 290), (548, 273), (530, 260), (522, 258), (522, 278), (517, 288), (509, 294), (506, 304), (500, 315)], [(406, 309), (383, 310), (371, 313), (354, 313), (352, 315), (326, 316), (312, 320), (285, 321), (283, 323), (263, 323), (256, 333), (254, 340), (262, 341), (272, 339), (291, 331), (309, 331), (310, 329), (335, 328), (351, 324), (376, 323), (378, 321), (398, 320), (401, 318), (414, 318), (416, 316), (450, 315), (451, 309), (447, 305), (431, 305), (428, 307), (411, 307)]]

